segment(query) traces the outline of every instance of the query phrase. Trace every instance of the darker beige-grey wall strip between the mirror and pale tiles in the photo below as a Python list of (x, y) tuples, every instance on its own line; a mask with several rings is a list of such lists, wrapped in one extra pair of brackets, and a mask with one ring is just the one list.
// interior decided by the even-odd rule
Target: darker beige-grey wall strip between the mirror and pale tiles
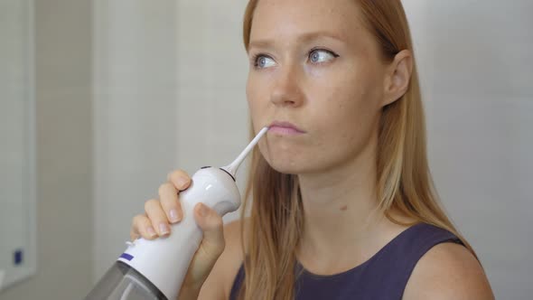
[(80, 299), (92, 284), (90, 3), (35, 1), (34, 16), (37, 273), (0, 300)]

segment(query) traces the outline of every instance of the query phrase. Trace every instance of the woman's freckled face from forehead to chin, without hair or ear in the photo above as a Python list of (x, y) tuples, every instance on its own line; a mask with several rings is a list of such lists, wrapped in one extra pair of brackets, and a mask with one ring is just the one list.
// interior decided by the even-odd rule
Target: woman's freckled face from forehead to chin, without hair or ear
[(320, 173), (355, 159), (377, 134), (386, 64), (353, 0), (260, 0), (247, 96), (259, 143), (281, 173)]

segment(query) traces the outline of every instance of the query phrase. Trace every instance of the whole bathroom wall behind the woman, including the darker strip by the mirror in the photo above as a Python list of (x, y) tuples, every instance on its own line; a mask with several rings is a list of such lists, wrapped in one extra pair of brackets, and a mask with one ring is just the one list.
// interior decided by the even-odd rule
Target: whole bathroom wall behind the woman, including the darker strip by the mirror
[[(533, 6), (403, 2), (438, 192), (497, 298), (528, 299)], [(35, 3), (37, 275), (0, 300), (82, 298), (168, 172), (248, 141), (245, 0)]]

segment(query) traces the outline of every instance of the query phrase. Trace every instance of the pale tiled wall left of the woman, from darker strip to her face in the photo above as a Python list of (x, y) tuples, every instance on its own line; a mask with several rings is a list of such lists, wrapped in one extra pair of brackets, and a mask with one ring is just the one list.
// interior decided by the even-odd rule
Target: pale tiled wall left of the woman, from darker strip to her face
[(245, 1), (93, 5), (96, 281), (167, 173), (228, 164), (247, 144), (248, 59)]

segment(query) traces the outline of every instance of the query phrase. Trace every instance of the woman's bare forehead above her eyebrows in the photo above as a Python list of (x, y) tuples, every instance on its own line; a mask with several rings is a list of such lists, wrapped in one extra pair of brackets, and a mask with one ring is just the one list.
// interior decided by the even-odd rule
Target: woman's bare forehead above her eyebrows
[(308, 33), (329, 33), (350, 42), (363, 23), (355, 0), (259, 0), (250, 39), (292, 40)]

